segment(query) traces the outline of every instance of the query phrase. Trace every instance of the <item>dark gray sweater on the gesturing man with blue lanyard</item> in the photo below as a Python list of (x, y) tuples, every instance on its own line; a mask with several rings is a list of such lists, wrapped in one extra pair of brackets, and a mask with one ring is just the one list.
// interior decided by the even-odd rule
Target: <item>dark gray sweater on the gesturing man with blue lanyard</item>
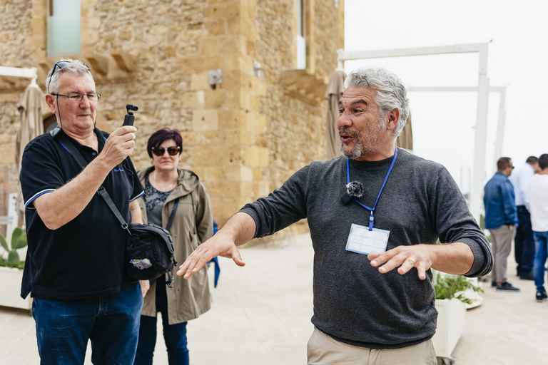
[[(360, 181), (372, 207), (392, 158), (350, 160), (350, 181)], [(345, 250), (352, 223), (368, 226), (370, 211), (340, 197), (346, 191), (346, 159), (314, 161), (298, 170), (268, 197), (245, 205), (255, 220), (255, 237), (272, 235), (308, 219), (314, 247), (312, 322), (338, 341), (372, 349), (396, 349), (430, 339), (437, 311), (432, 271), (380, 274), (366, 255)], [(390, 231), (387, 250), (399, 245), (464, 242), (474, 253), (467, 277), (487, 274), (492, 252), (462, 193), (440, 164), (398, 150), (377, 207), (375, 228)]]

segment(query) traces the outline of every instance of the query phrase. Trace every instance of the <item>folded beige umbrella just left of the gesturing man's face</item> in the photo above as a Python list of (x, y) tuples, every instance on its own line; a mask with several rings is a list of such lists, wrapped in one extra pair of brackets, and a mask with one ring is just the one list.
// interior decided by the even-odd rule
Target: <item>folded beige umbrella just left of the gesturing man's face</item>
[(339, 118), (339, 100), (345, 91), (345, 78), (346, 73), (344, 71), (335, 71), (329, 81), (328, 89), (325, 91), (325, 98), (328, 99), (328, 118), (325, 125), (325, 147), (327, 148), (328, 160), (341, 155), (337, 119)]

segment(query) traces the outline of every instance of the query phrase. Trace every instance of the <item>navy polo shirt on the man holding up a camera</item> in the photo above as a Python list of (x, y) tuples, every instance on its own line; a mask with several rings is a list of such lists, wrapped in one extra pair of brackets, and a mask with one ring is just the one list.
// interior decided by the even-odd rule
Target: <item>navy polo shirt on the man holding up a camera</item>
[[(97, 128), (94, 132), (101, 153), (108, 134)], [(71, 142), (88, 163), (96, 158), (93, 148), (73, 139)], [(36, 197), (59, 189), (81, 170), (71, 153), (50, 133), (26, 145), (20, 180), (28, 250), (21, 297), (31, 292), (31, 297), (41, 299), (88, 299), (116, 294), (131, 281), (123, 270), (127, 232), (101, 196), (94, 195), (78, 217), (57, 230), (49, 230), (34, 208)], [(103, 187), (126, 222), (131, 222), (129, 202), (143, 195), (143, 187), (130, 158), (108, 173)]]

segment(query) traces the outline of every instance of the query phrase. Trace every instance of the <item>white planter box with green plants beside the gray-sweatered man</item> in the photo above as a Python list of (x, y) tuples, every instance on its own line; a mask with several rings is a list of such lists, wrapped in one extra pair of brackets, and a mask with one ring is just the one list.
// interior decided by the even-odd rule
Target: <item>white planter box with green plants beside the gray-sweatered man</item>
[(437, 329), (432, 337), (436, 356), (448, 358), (465, 329), (466, 307), (459, 299), (436, 299)]

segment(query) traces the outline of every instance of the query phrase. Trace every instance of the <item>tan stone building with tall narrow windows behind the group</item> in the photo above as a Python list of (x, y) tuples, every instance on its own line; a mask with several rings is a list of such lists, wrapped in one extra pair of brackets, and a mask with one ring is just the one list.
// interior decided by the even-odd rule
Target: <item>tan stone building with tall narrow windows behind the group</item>
[[(150, 163), (151, 133), (180, 130), (180, 167), (201, 176), (221, 225), (298, 168), (325, 159), (324, 93), (344, 44), (343, 0), (74, 4), (0, 0), (0, 66), (38, 68), (45, 91), (55, 61), (87, 63), (102, 94), (97, 127), (111, 132), (126, 103), (139, 107), (137, 169)], [(16, 106), (28, 83), (0, 77), (0, 215), (19, 190)]]

